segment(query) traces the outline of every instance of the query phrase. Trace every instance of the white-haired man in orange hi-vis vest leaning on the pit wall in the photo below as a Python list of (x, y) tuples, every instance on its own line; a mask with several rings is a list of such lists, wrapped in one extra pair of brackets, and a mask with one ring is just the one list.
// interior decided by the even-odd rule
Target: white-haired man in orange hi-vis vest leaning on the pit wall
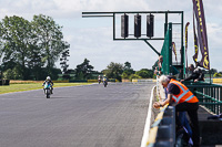
[[(153, 107), (159, 108), (167, 104), (170, 104), (170, 105), (175, 105), (175, 113), (186, 112), (192, 125), (193, 146), (199, 147), (200, 130), (199, 130), (199, 119), (198, 119), (198, 108), (199, 108), (198, 97), (194, 96), (193, 93), (189, 91), (189, 88), (181, 82), (173, 78), (170, 80), (165, 75), (160, 76), (160, 83), (163, 85), (163, 87), (167, 88), (168, 98), (163, 102), (155, 102), (153, 104)], [(178, 115), (175, 115), (175, 122), (178, 128), (180, 128), (181, 124)]]

